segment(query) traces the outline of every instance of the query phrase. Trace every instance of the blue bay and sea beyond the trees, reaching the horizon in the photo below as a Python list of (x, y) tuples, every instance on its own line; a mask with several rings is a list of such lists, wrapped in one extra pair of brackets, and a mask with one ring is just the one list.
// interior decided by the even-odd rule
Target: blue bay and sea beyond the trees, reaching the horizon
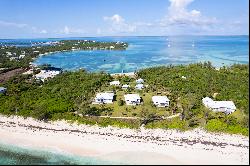
[[(153, 36), (153, 37), (85, 37), (64, 38), (95, 41), (128, 42), (125, 51), (69, 51), (39, 57), (37, 65), (51, 64), (64, 70), (106, 71), (109, 73), (133, 72), (159, 65), (190, 64), (211, 61), (221, 67), (234, 63), (249, 63), (249, 36)], [(63, 39), (0, 40), (18, 46), (32, 42)]]

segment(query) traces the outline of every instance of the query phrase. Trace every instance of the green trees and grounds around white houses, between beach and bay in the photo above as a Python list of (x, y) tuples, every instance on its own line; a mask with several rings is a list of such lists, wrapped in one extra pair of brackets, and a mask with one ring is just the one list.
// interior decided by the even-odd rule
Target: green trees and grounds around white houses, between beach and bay
[[(182, 78), (185, 76), (185, 78)], [(139, 71), (147, 88), (134, 89), (135, 78), (118, 77), (131, 88), (109, 86), (114, 80), (105, 73), (84, 70), (63, 72), (44, 83), (36, 82), (31, 75), (17, 75), (0, 84), (7, 88), (0, 95), (0, 113), (32, 116), (40, 120), (66, 119), (82, 124), (113, 125), (118, 127), (164, 128), (188, 130), (203, 127), (212, 132), (248, 135), (249, 130), (249, 65), (233, 65), (216, 70), (211, 64), (153, 67)], [(113, 104), (93, 105), (97, 92), (114, 91)], [(127, 106), (124, 94), (139, 93), (143, 104)], [(170, 107), (156, 108), (153, 95), (166, 95)], [(215, 113), (202, 105), (203, 97), (215, 100), (232, 100), (237, 110), (230, 114)], [(180, 117), (166, 117), (180, 113)], [(88, 115), (88, 116), (86, 116)], [(135, 117), (113, 119), (98, 116)]]

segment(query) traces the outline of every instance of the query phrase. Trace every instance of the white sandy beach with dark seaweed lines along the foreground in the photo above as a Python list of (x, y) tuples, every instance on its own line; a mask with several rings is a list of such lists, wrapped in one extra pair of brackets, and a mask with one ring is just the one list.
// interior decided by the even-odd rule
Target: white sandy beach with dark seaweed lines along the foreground
[(139, 130), (0, 115), (0, 141), (134, 164), (249, 164), (249, 138), (202, 129)]

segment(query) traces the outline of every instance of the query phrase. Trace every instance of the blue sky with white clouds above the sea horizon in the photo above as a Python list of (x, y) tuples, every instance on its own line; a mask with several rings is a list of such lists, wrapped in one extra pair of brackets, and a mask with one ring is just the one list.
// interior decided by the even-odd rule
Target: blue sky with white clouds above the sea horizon
[(0, 0), (0, 38), (249, 35), (249, 0)]

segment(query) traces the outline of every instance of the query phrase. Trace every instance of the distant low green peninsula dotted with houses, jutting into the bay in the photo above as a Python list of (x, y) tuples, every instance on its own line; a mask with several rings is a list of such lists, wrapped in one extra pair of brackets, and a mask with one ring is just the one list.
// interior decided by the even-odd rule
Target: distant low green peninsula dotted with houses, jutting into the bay
[[(61, 40), (50, 45), (37, 45), (32, 47), (0, 46), (0, 68), (12, 70), (16, 68), (28, 68), (29, 63), (40, 55), (57, 51), (71, 50), (125, 50), (128, 43), (123, 42), (97, 42), (90, 40)], [(8, 55), (10, 52), (11, 55)], [(20, 55), (25, 55), (19, 58)], [(15, 58), (15, 59), (10, 59)], [(5, 71), (6, 71), (5, 70)], [(1, 72), (1, 71), (0, 71)]]

